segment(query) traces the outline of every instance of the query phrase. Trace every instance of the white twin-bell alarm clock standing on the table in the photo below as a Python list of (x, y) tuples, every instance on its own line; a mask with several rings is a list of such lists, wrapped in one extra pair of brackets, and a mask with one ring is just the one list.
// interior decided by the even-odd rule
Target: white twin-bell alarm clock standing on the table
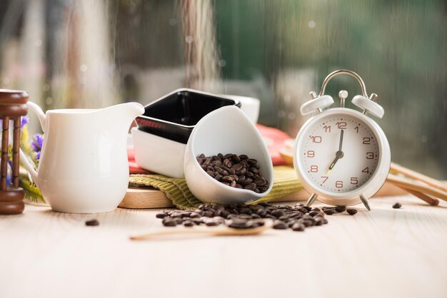
[[(340, 108), (324, 91), (334, 76), (348, 74), (361, 85), (362, 95), (352, 103), (363, 111), (345, 108), (346, 91), (340, 91)], [(376, 103), (377, 95), (368, 96), (365, 83), (357, 73), (340, 70), (329, 74), (321, 91), (311, 92), (311, 101), (303, 103), (301, 114), (316, 112), (296, 136), (293, 165), (303, 187), (311, 194), (310, 206), (318, 200), (329, 205), (355, 205), (368, 199), (385, 183), (391, 164), (391, 152), (385, 133), (367, 114), (383, 117), (383, 108)], [(323, 110), (323, 108), (328, 108)]]

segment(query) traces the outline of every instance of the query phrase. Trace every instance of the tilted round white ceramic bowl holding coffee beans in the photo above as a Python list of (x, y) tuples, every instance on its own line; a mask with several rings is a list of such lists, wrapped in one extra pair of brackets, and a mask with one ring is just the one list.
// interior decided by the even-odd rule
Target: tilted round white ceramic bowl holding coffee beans
[[(206, 156), (218, 153), (246, 154), (258, 160), (260, 171), (270, 184), (268, 190), (256, 193), (214, 180), (196, 160), (201, 153)], [(250, 202), (267, 195), (273, 185), (273, 165), (263, 138), (250, 118), (234, 106), (219, 108), (196, 124), (186, 144), (184, 171), (189, 190), (202, 202)]]

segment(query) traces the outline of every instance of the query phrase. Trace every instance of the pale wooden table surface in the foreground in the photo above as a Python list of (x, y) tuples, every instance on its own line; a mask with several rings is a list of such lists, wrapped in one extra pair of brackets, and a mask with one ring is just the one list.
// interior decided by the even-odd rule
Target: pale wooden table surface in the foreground
[[(156, 210), (26, 205), (0, 216), (0, 297), (447, 297), (445, 202), (371, 206), (305, 232), (133, 242), (131, 232), (161, 228)], [(92, 218), (101, 224), (86, 227)]]

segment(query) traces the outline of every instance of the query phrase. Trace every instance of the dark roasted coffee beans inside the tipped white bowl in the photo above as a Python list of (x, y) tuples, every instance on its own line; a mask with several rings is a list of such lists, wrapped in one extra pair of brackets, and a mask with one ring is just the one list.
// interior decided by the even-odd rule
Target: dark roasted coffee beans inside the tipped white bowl
[(208, 175), (224, 185), (262, 193), (268, 190), (269, 182), (263, 178), (258, 160), (247, 155), (219, 153), (214, 156), (199, 155), (197, 162)]

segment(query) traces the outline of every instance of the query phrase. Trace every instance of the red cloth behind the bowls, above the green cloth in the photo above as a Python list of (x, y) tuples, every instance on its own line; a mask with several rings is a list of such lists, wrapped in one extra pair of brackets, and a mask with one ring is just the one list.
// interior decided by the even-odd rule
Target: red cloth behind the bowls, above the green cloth
[[(268, 144), (268, 152), (271, 155), (273, 165), (286, 165), (286, 162), (281, 158), (279, 150), (284, 147), (284, 141), (290, 137), (277, 128), (269, 128), (267, 126), (257, 124), (259, 132), (266, 139)], [(148, 170), (140, 168), (135, 162), (134, 148), (127, 149), (127, 156), (129, 158), (129, 172), (131, 174), (149, 174)]]

